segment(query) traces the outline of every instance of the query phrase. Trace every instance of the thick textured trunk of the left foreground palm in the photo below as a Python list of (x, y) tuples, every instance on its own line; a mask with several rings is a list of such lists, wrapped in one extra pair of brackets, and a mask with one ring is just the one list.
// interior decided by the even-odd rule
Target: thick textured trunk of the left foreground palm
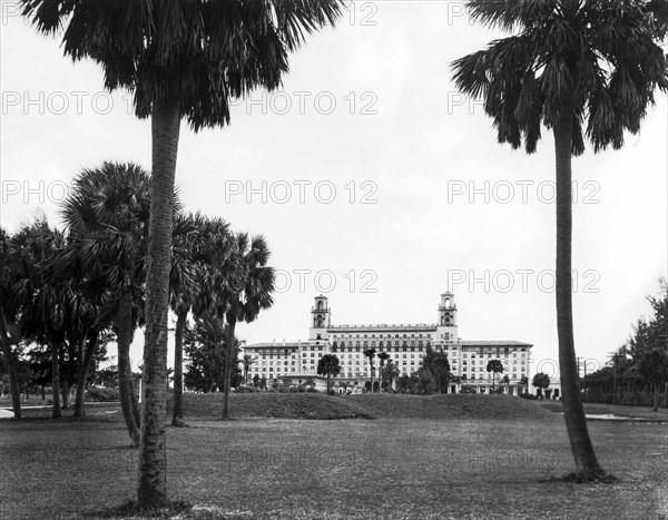
[(146, 340), (141, 399), (141, 444), (139, 454), (140, 508), (167, 504), (167, 318), (169, 313), (169, 272), (171, 269), (171, 228), (174, 181), (180, 126), (179, 92), (170, 85), (161, 105), (151, 116), (153, 180), (148, 229), (148, 272), (146, 278)]

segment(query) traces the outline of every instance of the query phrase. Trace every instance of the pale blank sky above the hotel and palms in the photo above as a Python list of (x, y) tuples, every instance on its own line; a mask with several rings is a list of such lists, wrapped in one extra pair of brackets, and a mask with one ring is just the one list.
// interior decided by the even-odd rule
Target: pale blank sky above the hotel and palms
[[(150, 127), (90, 61), (38, 35), (2, 1), (0, 223), (10, 230), (59, 203), (82, 168), (150, 167)], [(356, 1), (291, 57), (276, 92), (235, 102), (230, 125), (181, 125), (177, 185), (187, 210), (262, 234), (275, 303), (237, 327), (248, 343), (306, 340), (314, 296), (332, 324), (435, 323), (455, 293), (462, 340), (534, 345), (557, 375), (554, 151), (497, 143), (450, 63), (502, 35), (461, 2)], [(649, 316), (666, 276), (668, 104), (657, 95), (619, 151), (573, 159), (576, 350), (605, 363)], [(171, 343), (170, 343), (171, 344)], [(141, 357), (143, 334), (132, 344)], [(171, 363), (171, 353), (170, 353)]]

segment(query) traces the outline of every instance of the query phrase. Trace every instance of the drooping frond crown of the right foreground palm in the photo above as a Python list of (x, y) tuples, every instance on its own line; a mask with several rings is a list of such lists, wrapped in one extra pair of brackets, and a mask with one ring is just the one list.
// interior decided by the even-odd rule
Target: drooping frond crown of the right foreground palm
[(658, 87), (668, 89), (658, 41), (666, 26), (639, 0), (471, 0), (472, 17), (517, 33), (454, 61), (459, 89), (484, 99), (499, 143), (536, 151), (541, 124), (574, 116), (572, 154), (623, 145)]

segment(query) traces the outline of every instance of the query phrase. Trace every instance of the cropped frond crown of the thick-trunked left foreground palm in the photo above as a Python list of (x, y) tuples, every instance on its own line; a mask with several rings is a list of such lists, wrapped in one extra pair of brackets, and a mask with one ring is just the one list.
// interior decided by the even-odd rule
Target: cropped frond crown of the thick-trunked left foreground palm
[(174, 92), (195, 131), (229, 122), (229, 99), (274, 89), (288, 52), (333, 24), (340, 0), (122, 1), (21, 0), (45, 33), (65, 27), (65, 53), (92, 58), (108, 89), (135, 94), (145, 118)]

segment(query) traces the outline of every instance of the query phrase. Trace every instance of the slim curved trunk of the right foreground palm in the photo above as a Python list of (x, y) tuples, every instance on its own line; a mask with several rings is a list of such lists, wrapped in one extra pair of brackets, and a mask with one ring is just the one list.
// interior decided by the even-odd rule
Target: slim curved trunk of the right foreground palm
[(589, 480), (601, 475), (593, 445), (587, 429), (584, 408), (580, 398), (580, 383), (573, 340), (572, 308), (572, 186), (571, 146), (573, 133), (572, 105), (564, 104), (561, 117), (554, 125), (557, 159), (557, 333), (559, 336), (559, 369), (563, 418), (576, 473)]

